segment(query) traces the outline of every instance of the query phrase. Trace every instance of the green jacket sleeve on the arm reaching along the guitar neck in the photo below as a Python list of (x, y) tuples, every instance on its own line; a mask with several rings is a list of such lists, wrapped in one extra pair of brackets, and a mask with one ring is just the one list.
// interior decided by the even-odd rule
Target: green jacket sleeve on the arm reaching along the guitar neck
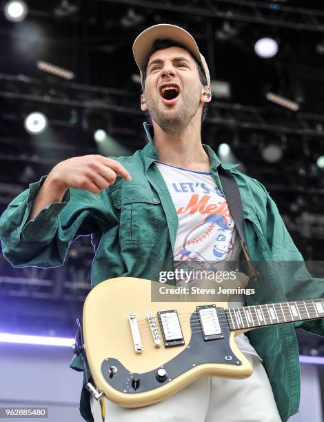
[[(312, 277), (308, 272), (301, 253), (285, 228), (276, 203), (263, 185), (261, 188), (266, 197), (266, 240), (283, 283), (287, 301), (323, 298), (324, 279)], [(324, 319), (300, 321), (294, 325), (295, 328), (303, 328), (314, 334), (324, 335)]]

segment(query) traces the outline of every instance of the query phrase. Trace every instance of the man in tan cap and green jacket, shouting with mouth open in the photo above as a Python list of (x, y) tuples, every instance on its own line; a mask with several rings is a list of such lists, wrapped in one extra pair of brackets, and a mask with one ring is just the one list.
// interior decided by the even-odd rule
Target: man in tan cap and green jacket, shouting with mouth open
[[(92, 234), (92, 286), (113, 277), (149, 279), (152, 260), (236, 261), (241, 249), (219, 179), (223, 168), (239, 185), (250, 257), (267, 261), (259, 296), (242, 303), (323, 297), (323, 281), (304, 268), (288, 280), (276, 265), (302, 258), (265, 188), (201, 143), (210, 76), (192, 36), (176, 26), (153, 26), (137, 37), (133, 52), (141, 71), (141, 109), (152, 121), (145, 125), (148, 145), (132, 157), (62, 161), (32, 183), (0, 220), (7, 259), (17, 267), (61, 265), (70, 241)], [(322, 320), (295, 326), (324, 334)], [(300, 392), (294, 325), (254, 330), (251, 344), (246, 336), (236, 341), (254, 367), (249, 378), (205, 377), (146, 408), (125, 409), (105, 399), (106, 420), (287, 421), (298, 411)], [(71, 365), (82, 370), (79, 358)], [(103, 403), (84, 388), (81, 414), (88, 421), (103, 419)]]

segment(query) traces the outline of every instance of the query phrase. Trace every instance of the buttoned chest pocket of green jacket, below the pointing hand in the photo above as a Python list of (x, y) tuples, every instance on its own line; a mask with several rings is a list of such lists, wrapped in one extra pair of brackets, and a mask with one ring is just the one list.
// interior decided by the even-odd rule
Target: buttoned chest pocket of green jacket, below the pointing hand
[(157, 194), (137, 183), (127, 183), (112, 192), (112, 202), (120, 212), (121, 249), (152, 248), (166, 225), (165, 214)]

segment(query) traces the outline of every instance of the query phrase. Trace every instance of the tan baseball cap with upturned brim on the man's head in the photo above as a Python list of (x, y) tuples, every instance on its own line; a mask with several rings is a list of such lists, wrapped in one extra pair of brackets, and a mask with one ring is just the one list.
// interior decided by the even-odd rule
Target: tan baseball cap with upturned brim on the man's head
[(139, 70), (141, 72), (143, 90), (143, 70), (145, 70), (145, 66), (148, 63), (148, 59), (153, 49), (153, 43), (156, 39), (170, 39), (171, 41), (182, 44), (185, 48), (187, 48), (201, 64), (203, 72), (205, 72), (207, 85), (210, 86), (210, 71), (208, 70), (205, 57), (203, 57), (203, 54), (199, 51), (196, 41), (194, 41), (192, 35), (183, 28), (180, 28), (180, 26), (161, 23), (159, 25), (150, 26), (150, 28), (141, 32), (133, 44), (133, 54), (136, 64), (139, 66)]

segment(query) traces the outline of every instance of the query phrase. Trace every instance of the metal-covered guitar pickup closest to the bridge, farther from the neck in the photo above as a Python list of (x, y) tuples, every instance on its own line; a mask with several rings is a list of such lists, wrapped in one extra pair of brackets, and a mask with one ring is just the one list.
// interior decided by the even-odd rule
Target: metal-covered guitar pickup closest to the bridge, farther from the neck
[(168, 310), (157, 314), (165, 348), (173, 348), (174, 346), (185, 344), (178, 312), (176, 310)]

